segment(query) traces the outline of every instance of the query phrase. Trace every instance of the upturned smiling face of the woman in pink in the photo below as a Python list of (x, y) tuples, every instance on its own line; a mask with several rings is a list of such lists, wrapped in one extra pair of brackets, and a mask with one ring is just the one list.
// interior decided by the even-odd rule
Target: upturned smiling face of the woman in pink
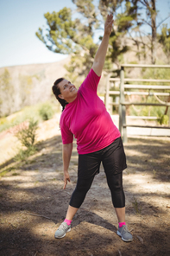
[(60, 88), (60, 99), (65, 99), (68, 103), (76, 99), (78, 90), (70, 81), (64, 79), (58, 86)]

